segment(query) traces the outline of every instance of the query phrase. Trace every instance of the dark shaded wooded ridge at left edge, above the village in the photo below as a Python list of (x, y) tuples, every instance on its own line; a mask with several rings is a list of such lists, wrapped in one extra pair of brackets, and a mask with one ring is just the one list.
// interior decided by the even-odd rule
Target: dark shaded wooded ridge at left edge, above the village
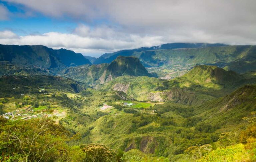
[(0, 96), (16, 98), (54, 92), (77, 93), (86, 87), (74, 80), (54, 76), (0, 76), (0, 82)]

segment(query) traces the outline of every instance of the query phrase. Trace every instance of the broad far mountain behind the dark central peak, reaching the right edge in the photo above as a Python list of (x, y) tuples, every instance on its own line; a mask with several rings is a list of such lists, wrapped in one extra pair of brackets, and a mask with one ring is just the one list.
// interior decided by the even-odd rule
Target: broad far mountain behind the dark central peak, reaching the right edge
[[(150, 73), (162, 79), (172, 79), (185, 74), (195, 65), (215, 65), (238, 73), (256, 70), (256, 46), (224, 44), (166, 44), (150, 48), (123, 50), (104, 54), (94, 63), (109, 63), (117, 56), (136, 56)], [(177, 48), (176, 48), (177, 47)]]

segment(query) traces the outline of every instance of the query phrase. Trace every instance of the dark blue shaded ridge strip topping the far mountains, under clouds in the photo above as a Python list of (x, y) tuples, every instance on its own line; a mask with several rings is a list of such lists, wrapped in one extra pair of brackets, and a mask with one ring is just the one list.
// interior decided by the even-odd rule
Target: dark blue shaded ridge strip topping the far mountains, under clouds
[(167, 43), (153, 47), (141, 47), (132, 50), (122, 50), (114, 53), (105, 53), (100, 56), (94, 63), (110, 63), (118, 56), (131, 56), (135, 52), (150, 51), (150, 50), (161, 50), (161, 49), (178, 49), (178, 48), (202, 48), (202, 47), (216, 47), (216, 46), (228, 46), (226, 44), (209, 44), (209, 43)]

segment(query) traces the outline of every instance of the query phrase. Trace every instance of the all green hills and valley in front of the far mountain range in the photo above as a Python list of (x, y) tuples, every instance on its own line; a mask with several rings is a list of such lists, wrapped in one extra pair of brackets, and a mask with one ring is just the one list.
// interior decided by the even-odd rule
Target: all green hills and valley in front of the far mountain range
[[(1, 76), (1, 161), (255, 161), (252, 73), (198, 65), (163, 80), (144, 76), (134, 57), (110, 65), (68, 69), (77, 79), (88, 74), (92, 87), (59, 76)], [(100, 78), (104, 84), (94, 85)]]

